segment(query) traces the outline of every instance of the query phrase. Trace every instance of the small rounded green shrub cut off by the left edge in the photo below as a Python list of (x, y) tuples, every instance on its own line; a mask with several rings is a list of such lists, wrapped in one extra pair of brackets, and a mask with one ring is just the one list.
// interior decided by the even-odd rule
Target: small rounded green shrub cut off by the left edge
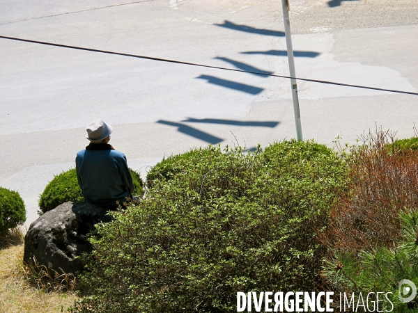
[(24, 223), (26, 209), (19, 193), (0, 187), (0, 234)]

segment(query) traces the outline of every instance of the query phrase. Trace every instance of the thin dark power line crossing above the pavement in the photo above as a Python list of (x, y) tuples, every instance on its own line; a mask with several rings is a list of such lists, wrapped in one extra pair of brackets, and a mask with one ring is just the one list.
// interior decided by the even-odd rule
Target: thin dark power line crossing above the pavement
[(77, 49), (77, 50), (83, 50), (83, 51), (98, 52), (98, 53), (101, 53), (101, 54), (115, 54), (116, 56), (130, 56), (131, 58), (144, 58), (146, 60), (152, 60), (152, 61), (160, 61), (160, 62), (168, 62), (168, 63), (176, 63), (176, 64), (184, 64), (184, 65), (193, 65), (193, 66), (199, 66), (199, 67), (208, 67), (208, 68), (214, 68), (214, 69), (217, 69), (217, 70), (228, 70), (228, 71), (233, 71), (233, 72), (258, 74), (258, 75), (264, 75), (264, 76), (270, 76), (270, 77), (279, 77), (279, 78), (284, 78), (284, 79), (297, 79), (298, 81), (310, 81), (312, 83), (326, 83), (328, 85), (387, 91), (388, 93), (403, 93), (403, 94), (406, 94), (406, 95), (418, 95), (418, 93), (412, 93), (410, 91), (392, 90), (392, 89), (376, 88), (376, 87), (369, 87), (369, 86), (350, 85), (349, 83), (336, 83), (334, 81), (320, 81), (318, 79), (303, 79), (303, 78), (289, 77), (289, 76), (282, 76), (282, 75), (275, 75), (275, 74), (268, 74), (268, 73), (261, 73), (261, 72), (251, 72), (251, 71), (237, 70), (237, 69), (227, 68), (227, 67), (219, 67), (219, 66), (204, 65), (204, 64), (199, 64), (199, 63), (176, 61), (176, 60), (170, 60), (170, 59), (167, 59), (167, 58), (154, 58), (153, 56), (139, 56), (137, 54), (124, 54), (124, 53), (121, 53), (121, 52), (91, 49), (91, 48), (84, 48), (84, 47), (76, 47), (76, 46), (70, 46), (70, 45), (60, 45), (60, 44), (55, 44), (55, 43), (52, 43), (52, 42), (43, 42), (43, 41), (37, 41), (37, 40), (14, 38), (14, 37), (2, 36), (2, 35), (0, 35), (0, 38), (8, 39), (8, 40), (22, 41), (22, 42), (31, 42), (31, 43), (35, 43), (35, 44), (38, 44), (38, 45), (47, 45), (47, 46), (53, 46), (53, 47), (61, 47), (61, 48), (68, 48), (68, 49)]

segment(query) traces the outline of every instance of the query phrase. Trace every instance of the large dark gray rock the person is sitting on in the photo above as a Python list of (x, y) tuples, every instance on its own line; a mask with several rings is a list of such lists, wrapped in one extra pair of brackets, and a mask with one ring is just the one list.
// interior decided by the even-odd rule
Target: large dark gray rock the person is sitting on
[(94, 204), (65, 202), (31, 223), (24, 237), (24, 262), (77, 275), (83, 264), (75, 257), (93, 250), (88, 232), (96, 223), (110, 220), (107, 211)]

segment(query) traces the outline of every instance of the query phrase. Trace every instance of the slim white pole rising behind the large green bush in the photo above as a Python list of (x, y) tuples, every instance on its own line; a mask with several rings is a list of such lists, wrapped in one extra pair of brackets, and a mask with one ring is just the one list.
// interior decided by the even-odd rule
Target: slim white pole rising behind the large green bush
[(299, 97), (297, 97), (295, 58), (293, 56), (292, 34), (291, 34), (291, 20), (289, 19), (289, 4), (288, 0), (281, 0), (283, 8), (284, 19), (284, 33), (286, 34), (286, 46), (288, 50), (289, 72), (291, 74), (292, 97), (293, 97), (293, 111), (295, 111), (295, 124), (297, 141), (303, 141), (302, 138), (302, 124), (300, 122)]

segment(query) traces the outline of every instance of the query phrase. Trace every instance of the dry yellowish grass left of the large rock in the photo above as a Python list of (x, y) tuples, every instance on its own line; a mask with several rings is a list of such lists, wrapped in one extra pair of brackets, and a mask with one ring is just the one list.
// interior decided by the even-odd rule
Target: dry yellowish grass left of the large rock
[(20, 230), (0, 239), (0, 312), (66, 312), (77, 296), (73, 292), (46, 292), (37, 287), (36, 278), (29, 281), (31, 272), (23, 266), (23, 249)]

